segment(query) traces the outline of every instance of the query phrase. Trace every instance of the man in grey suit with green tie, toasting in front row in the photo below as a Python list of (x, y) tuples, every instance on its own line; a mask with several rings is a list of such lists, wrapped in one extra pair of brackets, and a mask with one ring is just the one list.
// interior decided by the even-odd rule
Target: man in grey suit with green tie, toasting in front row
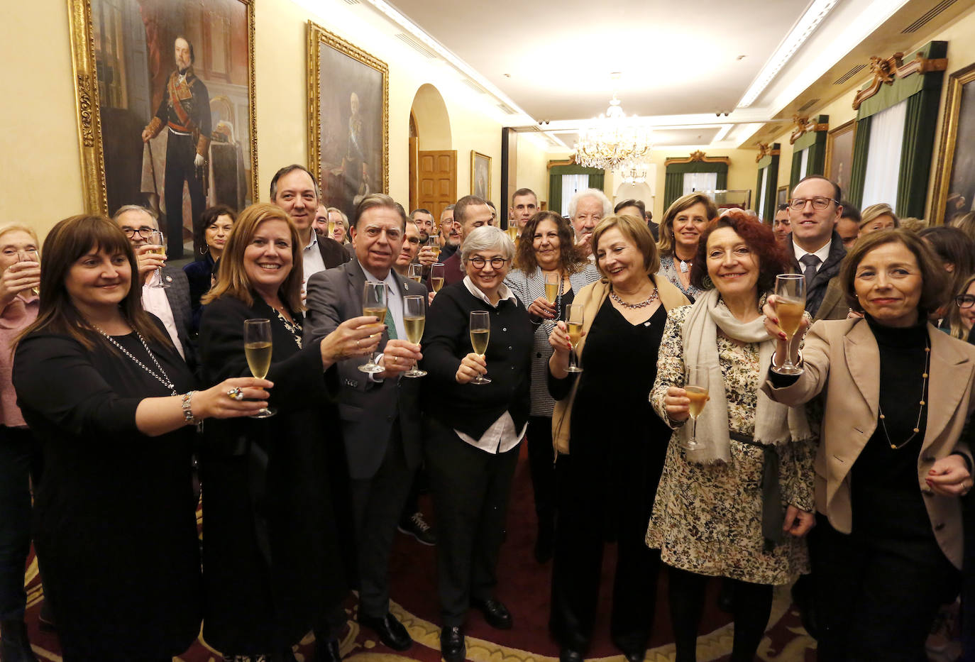
[[(401, 378), (420, 358), (405, 339), (404, 297), (427, 290), (392, 269), (405, 236), (406, 216), (381, 193), (356, 207), (351, 229), (356, 258), (308, 280), (305, 338), (319, 338), (362, 315), (367, 281), (386, 284), (385, 330), (376, 360), (384, 370), (358, 370), (361, 359), (338, 364), (338, 412), (348, 457), (359, 563), (359, 622), (396, 650), (412, 644), (389, 612), (389, 556), (396, 526), (422, 455), (416, 379)], [(380, 320), (380, 323), (382, 320)]]

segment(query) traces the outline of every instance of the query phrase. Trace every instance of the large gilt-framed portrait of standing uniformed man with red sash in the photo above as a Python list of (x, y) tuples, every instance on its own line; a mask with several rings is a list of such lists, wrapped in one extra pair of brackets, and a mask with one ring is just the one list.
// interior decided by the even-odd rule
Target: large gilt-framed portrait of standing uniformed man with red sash
[(253, 2), (69, 5), (87, 208), (151, 209), (171, 259), (202, 258), (207, 207), (256, 199)]

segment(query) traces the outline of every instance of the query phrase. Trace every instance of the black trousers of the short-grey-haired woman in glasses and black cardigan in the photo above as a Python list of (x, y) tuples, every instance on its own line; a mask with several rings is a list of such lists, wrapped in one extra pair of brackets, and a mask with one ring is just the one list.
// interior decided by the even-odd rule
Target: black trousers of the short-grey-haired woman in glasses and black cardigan
[(464, 624), (471, 600), (494, 595), (516, 446), (489, 453), (427, 419), (426, 466), (437, 516), (437, 591), (445, 628)]

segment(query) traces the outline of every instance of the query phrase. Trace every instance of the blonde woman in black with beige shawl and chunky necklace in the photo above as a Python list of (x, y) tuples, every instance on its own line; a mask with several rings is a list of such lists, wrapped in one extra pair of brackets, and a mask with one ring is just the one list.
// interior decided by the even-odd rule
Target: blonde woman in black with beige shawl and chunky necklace
[(643, 530), (668, 435), (646, 392), (656, 374), (667, 312), (687, 298), (656, 274), (653, 235), (642, 219), (608, 216), (591, 242), (603, 278), (572, 302), (585, 315), (577, 347), (582, 372), (567, 371), (565, 322), (549, 334), (559, 486), (549, 627), (562, 661), (582, 660), (596, 619), (605, 532), (611, 531), (617, 561), (610, 634), (628, 660), (640, 662), (653, 625), (660, 567), (659, 552), (643, 546)]

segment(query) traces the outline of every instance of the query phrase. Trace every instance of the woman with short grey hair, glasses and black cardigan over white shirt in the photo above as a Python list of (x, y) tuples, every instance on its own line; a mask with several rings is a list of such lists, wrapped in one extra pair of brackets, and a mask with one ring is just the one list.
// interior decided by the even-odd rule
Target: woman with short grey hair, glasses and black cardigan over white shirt
[[(437, 515), (441, 653), (465, 658), (467, 609), (507, 630), (511, 612), (495, 598), (512, 478), (528, 422), (534, 329), (504, 284), (515, 246), (485, 225), (464, 234), (463, 280), (441, 290), (426, 318), (422, 380), (425, 459)], [(487, 348), (475, 351), (475, 320), (487, 321)], [(484, 320), (483, 318), (487, 318)], [(485, 385), (487, 375), (490, 384)], [(450, 403), (443, 407), (442, 403)]]

